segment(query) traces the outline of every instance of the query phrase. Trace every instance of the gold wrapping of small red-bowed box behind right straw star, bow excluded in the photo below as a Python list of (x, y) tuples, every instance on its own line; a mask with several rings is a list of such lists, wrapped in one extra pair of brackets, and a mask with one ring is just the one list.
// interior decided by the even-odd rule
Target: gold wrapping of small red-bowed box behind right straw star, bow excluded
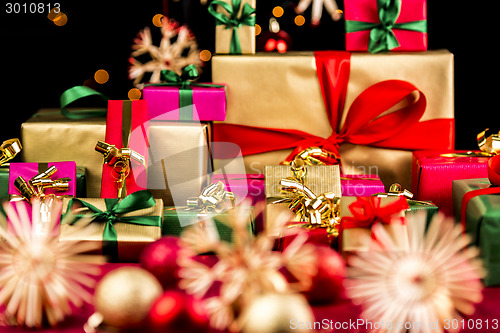
[[(340, 199), (340, 216), (347, 217), (352, 216), (352, 212), (349, 209), (349, 205), (355, 202), (357, 197), (342, 197)], [(399, 197), (385, 197), (380, 198), (381, 205), (387, 205), (391, 202), (398, 200)], [(395, 216), (404, 216), (405, 211), (401, 211), (399, 215)], [(342, 222), (341, 222), (342, 223)], [(391, 237), (391, 240), (394, 242), (394, 245), (397, 249), (408, 249), (408, 232), (406, 224), (402, 223), (390, 223), (388, 225), (382, 226), (388, 235)], [(342, 253), (352, 253), (355, 251), (369, 251), (370, 250), (370, 237), (371, 230), (368, 228), (349, 228), (344, 229), (342, 232), (341, 242), (339, 244), (339, 248)]]

